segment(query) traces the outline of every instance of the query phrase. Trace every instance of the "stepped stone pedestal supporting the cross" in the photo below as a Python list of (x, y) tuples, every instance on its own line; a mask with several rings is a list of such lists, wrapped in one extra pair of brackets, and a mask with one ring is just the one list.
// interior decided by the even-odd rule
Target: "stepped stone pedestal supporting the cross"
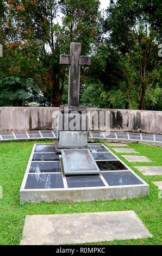
[(56, 151), (62, 149), (88, 148), (88, 115), (85, 107), (64, 105), (60, 107), (57, 122), (57, 136), (59, 142)]

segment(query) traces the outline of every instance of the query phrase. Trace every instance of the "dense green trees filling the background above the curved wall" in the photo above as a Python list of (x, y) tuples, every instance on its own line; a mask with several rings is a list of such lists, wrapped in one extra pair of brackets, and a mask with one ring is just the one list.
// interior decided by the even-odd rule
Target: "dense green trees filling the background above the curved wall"
[(67, 103), (68, 66), (59, 64), (59, 56), (69, 54), (74, 41), (91, 56), (80, 77), (82, 105), (161, 110), (160, 0), (110, 1), (106, 15), (99, 0), (0, 4), (0, 105)]

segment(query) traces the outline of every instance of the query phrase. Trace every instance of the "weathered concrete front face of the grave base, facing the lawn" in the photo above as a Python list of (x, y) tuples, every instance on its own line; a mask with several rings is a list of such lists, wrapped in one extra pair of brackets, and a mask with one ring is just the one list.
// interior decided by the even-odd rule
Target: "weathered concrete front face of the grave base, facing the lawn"
[(20, 202), (91, 202), (147, 196), (148, 184), (104, 188), (79, 188), (68, 190), (20, 190)]

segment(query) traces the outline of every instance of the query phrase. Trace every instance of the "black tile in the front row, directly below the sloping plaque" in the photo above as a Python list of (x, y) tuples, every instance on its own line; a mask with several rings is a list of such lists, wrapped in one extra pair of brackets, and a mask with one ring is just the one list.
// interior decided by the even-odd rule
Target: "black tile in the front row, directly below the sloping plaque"
[(99, 175), (66, 176), (68, 187), (104, 187)]

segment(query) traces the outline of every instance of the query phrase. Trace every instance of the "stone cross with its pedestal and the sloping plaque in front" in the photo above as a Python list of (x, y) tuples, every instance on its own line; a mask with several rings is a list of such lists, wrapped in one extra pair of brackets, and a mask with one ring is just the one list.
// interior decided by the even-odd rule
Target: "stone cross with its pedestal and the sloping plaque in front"
[(72, 42), (70, 55), (61, 55), (60, 64), (70, 65), (68, 104), (59, 109), (56, 152), (63, 157), (64, 172), (74, 174), (99, 174), (88, 148), (89, 121), (86, 107), (79, 106), (80, 66), (90, 65), (91, 58), (80, 56), (81, 44)]

